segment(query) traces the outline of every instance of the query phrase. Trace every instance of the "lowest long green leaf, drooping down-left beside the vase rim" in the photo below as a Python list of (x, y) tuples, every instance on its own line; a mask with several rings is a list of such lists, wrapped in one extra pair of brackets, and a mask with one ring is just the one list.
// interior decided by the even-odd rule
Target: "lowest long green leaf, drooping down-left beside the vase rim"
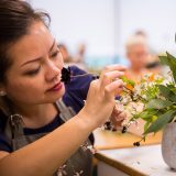
[(176, 114), (175, 110), (169, 110), (168, 112), (161, 114), (156, 121), (154, 121), (150, 128), (143, 133), (146, 135), (152, 132), (157, 132), (161, 130), (165, 124), (167, 124)]

